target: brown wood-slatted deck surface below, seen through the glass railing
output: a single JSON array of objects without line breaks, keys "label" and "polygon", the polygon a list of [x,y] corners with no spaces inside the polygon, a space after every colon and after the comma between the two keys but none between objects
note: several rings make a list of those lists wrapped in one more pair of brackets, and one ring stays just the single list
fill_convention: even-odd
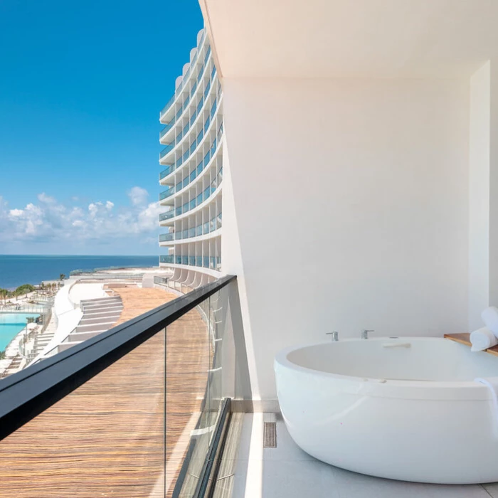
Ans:
[{"label": "brown wood-slatted deck surface below, seen through the glass railing", "polygon": [[[175,297],[119,292],[120,321]],[[207,338],[194,309],[1,441],[0,497],[169,496],[206,388]]]}]

